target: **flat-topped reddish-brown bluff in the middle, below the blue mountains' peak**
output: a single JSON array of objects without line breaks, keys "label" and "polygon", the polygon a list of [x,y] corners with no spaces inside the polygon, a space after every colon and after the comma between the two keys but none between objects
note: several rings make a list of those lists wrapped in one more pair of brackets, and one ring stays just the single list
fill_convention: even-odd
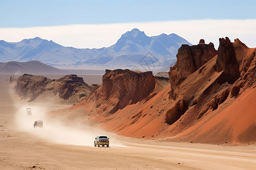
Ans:
[{"label": "flat-topped reddish-brown bluff in the middle, below the blue mountains' peak", "polygon": [[90,98],[101,104],[112,105],[109,113],[115,113],[129,104],[146,99],[155,88],[152,71],[140,73],[130,70],[106,70],[101,86],[96,87]]}]

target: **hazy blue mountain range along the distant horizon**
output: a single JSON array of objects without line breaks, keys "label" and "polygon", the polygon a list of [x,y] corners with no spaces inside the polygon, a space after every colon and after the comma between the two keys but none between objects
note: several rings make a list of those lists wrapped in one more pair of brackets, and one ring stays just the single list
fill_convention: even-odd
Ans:
[{"label": "hazy blue mountain range along the distant horizon", "polygon": [[112,46],[100,49],[64,47],[39,37],[20,42],[0,41],[0,62],[31,60],[51,66],[170,66],[176,61],[177,50],[187,40],[172,33],[147,36],[139,29],[124,33]]}]

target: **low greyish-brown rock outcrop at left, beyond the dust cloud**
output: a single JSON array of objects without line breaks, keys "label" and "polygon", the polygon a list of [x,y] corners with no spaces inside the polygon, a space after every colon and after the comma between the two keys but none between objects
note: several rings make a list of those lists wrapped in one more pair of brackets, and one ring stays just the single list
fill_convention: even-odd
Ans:
[{"label": "low greyish-brown rock outcrop at left, beyond the dust cloud", "polygon": [[44,76],[23,74],[16,80],[14,89],[16,94],[28,101],[40,96],[46,99],[58,96],[64,103],[72,104],[89,96],[92,87],[77,75],[65,75],[60,79],[52,80]]}]

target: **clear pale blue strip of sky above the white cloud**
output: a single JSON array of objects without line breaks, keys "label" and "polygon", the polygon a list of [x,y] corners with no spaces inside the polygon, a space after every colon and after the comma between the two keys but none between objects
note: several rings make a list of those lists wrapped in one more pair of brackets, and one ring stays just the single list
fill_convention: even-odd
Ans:
[{"label": "clear pale blue strip of sky above the white cloud", "polygon": [[255,0],[8,0],[0,3],[0,27],[38,27],[191,19],[255,19],[255,7]]}]

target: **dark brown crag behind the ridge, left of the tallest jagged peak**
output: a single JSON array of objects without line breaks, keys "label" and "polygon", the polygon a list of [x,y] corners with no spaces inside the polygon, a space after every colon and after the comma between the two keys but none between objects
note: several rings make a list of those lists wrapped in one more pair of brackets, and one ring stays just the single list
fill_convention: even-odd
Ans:
[{"label": "dark brown crag behind the ridge, left of the tallest jagged peak", "polygon": [[171,88],[178,86],[187,76],[216,56],[217,51],[212,42],[209,44],[203,44],[202,40],[200,42],[198,45],[181,45],[179,48],[177,61],[173,67],[170,67]]}]

